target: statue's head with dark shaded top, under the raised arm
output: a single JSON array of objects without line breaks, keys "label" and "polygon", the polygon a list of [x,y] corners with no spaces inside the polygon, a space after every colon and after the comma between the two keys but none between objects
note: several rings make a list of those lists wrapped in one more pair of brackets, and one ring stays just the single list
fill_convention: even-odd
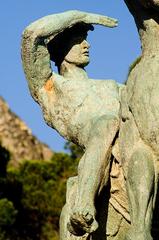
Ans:
[{"label": "statue's head with dark shaded top, under the raised arm", "polygon": [[65,29],[48,44],[50,58],[58,68],[63,61],[79,67],[89,63],[89,43],[87,42],[88,30],[93,30],[91,24],[78,23]]}]

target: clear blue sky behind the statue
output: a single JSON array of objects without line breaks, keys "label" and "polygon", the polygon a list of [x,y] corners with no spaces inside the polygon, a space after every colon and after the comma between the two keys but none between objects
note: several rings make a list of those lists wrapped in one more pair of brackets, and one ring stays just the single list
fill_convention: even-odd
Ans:
[{"label": "clear blue sky behind the statue", "polygon": [[73,9],[119,20],[117,28],[96,26],[89,33],[91,62],[86,70],[91,78],[124,82],[129,65],[140,55],[140,43],[133,18],[123,0],[1,1],[0,95],[33,134],[55,151],[63,150],[64,140],[45,124],[39,106],[30,97],[21,65],[21,34],[28,24],[40,17]]}]

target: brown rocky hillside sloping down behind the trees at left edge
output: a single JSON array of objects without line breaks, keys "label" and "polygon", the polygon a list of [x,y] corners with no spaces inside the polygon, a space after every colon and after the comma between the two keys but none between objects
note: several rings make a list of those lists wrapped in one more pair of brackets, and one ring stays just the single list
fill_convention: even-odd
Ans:
[{"label": "brown rocky hillside sloping down behind the trees at left edge", "polygon": [[11,153],[14,166],[22,160],[48,160],[53,152],[41,143],[27,125],[14,114],[0,97],[0,144]]}]

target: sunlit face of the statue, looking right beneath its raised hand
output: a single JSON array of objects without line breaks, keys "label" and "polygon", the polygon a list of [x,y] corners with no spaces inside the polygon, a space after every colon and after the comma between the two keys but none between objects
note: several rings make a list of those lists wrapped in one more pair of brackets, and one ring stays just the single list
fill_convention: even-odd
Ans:
[{"label": "sunlit face of the statue, looking right beneath its raised hand", "polygon": [[69,43],[69,51],[64,59],[76,66],[85,67],[89,63],[89,48],[86,36],[75,36]]}]

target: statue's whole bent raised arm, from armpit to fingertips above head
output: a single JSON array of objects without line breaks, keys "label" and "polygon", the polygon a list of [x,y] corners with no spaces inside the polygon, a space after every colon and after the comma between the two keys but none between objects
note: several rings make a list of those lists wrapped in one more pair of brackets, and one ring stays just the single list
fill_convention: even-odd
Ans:
[{"label": "statue's whole bent raised arm, from armpit to fingertips above head", "polygon": [[30,24],[22,37],[22,61],[32,97],[38,101],[39,89],[52,76],[47,43],[64,29],[78,22],[117,26],[115,19],[80,11],[43,17]]}]

